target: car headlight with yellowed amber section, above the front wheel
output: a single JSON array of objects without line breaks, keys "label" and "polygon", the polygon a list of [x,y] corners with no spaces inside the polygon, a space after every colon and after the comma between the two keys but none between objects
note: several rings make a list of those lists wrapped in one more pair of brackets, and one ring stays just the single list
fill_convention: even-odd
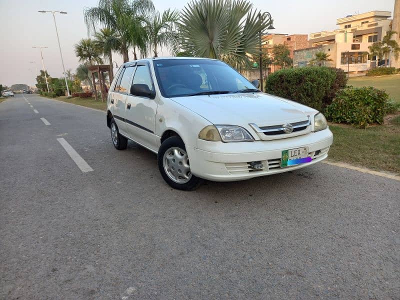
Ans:
[{"label": "car headlight with yellowed amber section, above the front wheel", "polygon": [[223,142],[254,140],[246,129],[235,125],[208,125],[201,129],[198,138]]}]

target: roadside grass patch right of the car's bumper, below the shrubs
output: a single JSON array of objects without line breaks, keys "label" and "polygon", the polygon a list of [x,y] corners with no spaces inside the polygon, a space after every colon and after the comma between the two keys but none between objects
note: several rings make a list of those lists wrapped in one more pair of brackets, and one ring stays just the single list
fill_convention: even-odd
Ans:
[{"label": "roadside grass patch right of the car's bumper, below the shrubs", "polygon": [[329,159],[400,174],[400,115],[366,129],[329,124],[333,144]]}]

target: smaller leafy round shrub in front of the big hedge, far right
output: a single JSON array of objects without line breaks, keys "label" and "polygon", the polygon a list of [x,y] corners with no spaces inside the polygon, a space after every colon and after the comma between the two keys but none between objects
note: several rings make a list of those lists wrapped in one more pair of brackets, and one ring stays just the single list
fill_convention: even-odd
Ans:
[{"label": "smaller leafy round shrub in front of the big hedge, far right", "polygon": [[346,87],[340,90],[326,107],[325,116],[336,123],[349,123],[365,128],[383,123],[389,96],[372,86]]}]

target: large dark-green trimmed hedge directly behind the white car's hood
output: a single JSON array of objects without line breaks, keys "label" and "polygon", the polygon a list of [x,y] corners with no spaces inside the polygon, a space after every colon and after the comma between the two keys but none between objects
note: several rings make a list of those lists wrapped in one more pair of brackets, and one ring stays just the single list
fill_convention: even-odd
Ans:
[{"label": "large dark-green trimmed hedge directly behind the white car's hood", "polygon": [[344,72],[336,68],[287,68],[268,76],[265,91],[322,110],[346,82]]}]

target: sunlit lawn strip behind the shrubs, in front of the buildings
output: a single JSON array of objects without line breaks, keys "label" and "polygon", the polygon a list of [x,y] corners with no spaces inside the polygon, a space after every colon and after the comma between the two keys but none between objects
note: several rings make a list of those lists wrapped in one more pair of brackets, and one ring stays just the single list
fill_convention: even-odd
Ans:
[{"label": "sunlit lawn strip behind the shrubs, in front of the buildings", "polygon": [[354,87],[371,85],[376,88],[385,89],[390,98],[400,103],[400,74],[378,77],[351,77],[348,79],[347,84],[353,85]]}]

